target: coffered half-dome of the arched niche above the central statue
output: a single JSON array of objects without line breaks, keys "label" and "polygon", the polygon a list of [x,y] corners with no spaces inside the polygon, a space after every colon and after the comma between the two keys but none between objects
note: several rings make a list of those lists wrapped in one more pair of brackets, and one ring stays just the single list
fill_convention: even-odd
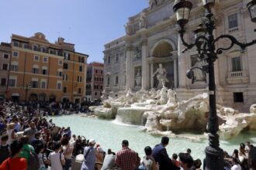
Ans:
[{"label": "coffered half-dome of the arched niche above the central statue", "polygon": [[171,52],[174,51],[175,43],[171,39],[161,39],[154,43],[154,46],[150,50],[150,56],[154,57],[166,57],[171,56]]}]

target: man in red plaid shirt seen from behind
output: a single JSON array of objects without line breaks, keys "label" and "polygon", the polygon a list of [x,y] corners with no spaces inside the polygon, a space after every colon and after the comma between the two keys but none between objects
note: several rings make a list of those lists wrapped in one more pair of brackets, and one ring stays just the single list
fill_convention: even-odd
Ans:
[{"label": "man in red plaid shirt seen from behind", "polygon": [[137,168],[137,154],[129,148],[129,142],[123,140],[122,150],[116,153],[116,165],[122,170],[131,170]]}]

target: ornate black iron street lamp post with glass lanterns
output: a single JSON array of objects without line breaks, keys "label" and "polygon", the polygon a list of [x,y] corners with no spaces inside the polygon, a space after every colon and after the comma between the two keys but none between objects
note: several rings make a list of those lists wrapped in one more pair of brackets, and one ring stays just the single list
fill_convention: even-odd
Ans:
[{"label": "ornate black iron street lamp post with glass lanterns", "polygon": [[[216,39],[213,36],[213,30],[216,29],[215,22],[213,20],[213,8],[214,0],[202,0],[202,4],[206,9],[205,16],[206,22],[200,25],[199,28],[193,32],[195,34],[195,42],[189,44],[184,40],[185,25],[189,22],[189,15],[192,9],[192,2],[187,0],[176,0],[173,5],[173,10],[176,13],[177,24],[179,26],[178,33],[182,40],[182,44],[185,49],[182,53],[185,53],[188,49],[196,47],[199,52],[199,59],[207,63],[206,66],[202,66],[202,71],[209,74],[209,120],[208,120],[208,131],[209,131],[209,146],[206,147],[206,170],[221,170],[223,169],[223,150],[220,148],[218,117],[216,114],[216,85],[214,77],[214,62],[216,61],[217,54],[223,53],[223,50],[231,49],[235,44],[240,46],[241,51],[247,46],[251,46],[256,43],[256,39],[248,43],[238,42],[234,36],[223,35]],[[247,8],[251,15],[251,21],[256,22],[256,0],[251,0],[247,3]],[[230,39],[230,46],[227,48],[216,49],[216,42],[220,39]],[[189,78],[192,78],[192,70],[187,73]]]}]

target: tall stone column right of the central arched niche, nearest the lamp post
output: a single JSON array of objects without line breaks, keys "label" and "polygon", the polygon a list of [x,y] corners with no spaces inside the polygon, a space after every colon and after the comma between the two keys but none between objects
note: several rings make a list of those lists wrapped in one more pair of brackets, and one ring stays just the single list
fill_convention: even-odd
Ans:
[{"label": "tall stone column right of the central arched niche, nearest the lamp post", "polygon": [[[187,35],[184,35],[185,41],[187,41]],[[186,87],[186,57],[185,53],[182,53],[182,49],[185,47],[182,45],[182,39],[178,34],[178,87],[185,88]]]}]

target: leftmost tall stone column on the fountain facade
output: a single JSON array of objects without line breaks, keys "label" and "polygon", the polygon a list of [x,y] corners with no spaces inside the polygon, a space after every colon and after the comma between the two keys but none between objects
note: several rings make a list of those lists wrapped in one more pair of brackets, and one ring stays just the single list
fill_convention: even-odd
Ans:
[{"label": "leftmost tall stone column on the fountain facade", "polygon": [[126,90],[132,89],[132,58],[133,46],[127,44],[126,46]]}]

